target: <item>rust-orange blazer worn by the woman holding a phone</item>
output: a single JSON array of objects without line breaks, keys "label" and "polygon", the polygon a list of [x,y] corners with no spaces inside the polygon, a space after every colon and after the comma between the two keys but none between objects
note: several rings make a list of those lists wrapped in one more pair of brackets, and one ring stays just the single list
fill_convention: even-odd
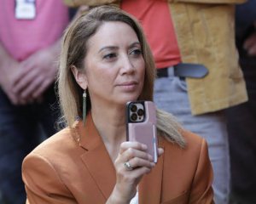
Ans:
[{"label": "rust-orange blazer worn by the woman holding a phone", "polygon": [[[80,140],[70,129],[56,133],[38,145],[22,165],[27,203],[102,204],[108,200],[116,182],[108,150],[91,116],[77,125]],[[212,166],[207,142],[186,132],[188,146],[162,139],[165,150],[153,171],[138,185],[139,204],[214,203]]]}]

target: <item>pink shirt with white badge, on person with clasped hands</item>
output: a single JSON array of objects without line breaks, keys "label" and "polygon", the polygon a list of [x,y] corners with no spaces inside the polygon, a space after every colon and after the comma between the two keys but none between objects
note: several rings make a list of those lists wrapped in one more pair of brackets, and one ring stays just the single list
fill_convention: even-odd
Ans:
[{"label": "pink shirt with white badge, on person with clasped hands", "polygon": [[34,20],[16,20],[15,0],[0,0],[0,41],[18,61],[53,44],[69,22],[61,0],[36,0],[35,5]]}]

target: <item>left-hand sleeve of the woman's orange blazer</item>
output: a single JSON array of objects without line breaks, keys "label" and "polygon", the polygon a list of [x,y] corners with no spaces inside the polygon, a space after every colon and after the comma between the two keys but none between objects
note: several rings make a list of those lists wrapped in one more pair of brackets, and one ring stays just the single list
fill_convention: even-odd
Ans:
[{"label": "left-hand sleeve of the woman's orange blazer", "polygon": [[55,168],[44,156],[31,153],[22,164],[22,178],[25,183],[27,202],[30,204],[77,203],[61,181]]}]

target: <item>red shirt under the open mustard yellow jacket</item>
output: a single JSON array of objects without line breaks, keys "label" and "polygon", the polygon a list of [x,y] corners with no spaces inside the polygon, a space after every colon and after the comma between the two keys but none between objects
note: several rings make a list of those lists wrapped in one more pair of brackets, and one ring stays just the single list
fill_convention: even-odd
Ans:
[{"label": "red shirt under the open mustard yellow jacket", "polygon": [[172,16],[166,1],[123,0],[121,8],[141,21],[157,68],[181,62]]}]

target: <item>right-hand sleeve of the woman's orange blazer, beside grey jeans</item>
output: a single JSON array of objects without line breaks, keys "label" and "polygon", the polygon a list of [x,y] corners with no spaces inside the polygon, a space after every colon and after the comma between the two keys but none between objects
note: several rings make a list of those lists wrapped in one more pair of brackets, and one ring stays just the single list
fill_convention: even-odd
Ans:
[{"label": "right-hand sleeve of the woman's orange blazer, beside grey jeans", "polygon": [[203,139],[201,154],[189,195],[189,203],[214,204],[212,190],[213,172],[208,156],[207,141]]}]

